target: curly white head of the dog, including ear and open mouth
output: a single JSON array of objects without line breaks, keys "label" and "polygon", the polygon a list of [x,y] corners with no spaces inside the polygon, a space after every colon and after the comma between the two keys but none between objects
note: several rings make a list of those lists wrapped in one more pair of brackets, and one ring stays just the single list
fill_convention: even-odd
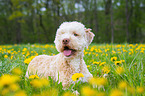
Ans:
[{"label": "curly white head of the dog, including ear and open mouth", "polygon": [[54,43],[58,52],[71,57],[88,47],[94,36],[82,23],[64,22],[57,29]]}]

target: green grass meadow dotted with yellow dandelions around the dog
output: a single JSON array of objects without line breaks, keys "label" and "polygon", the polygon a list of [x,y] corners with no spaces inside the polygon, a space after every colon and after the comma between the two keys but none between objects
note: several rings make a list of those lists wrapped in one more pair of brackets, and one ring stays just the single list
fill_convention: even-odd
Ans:
[{"label": "green grass meadow dotted with yellow dandelions around the dog", "polygon": [[81,96],[145,96],[144,52],[145,44],[92,44],[84,60],[94,78],[63,90],[51,78],[25,78],[35,56],[58,53],[54,45],[0,45],[0,96],[74,96],[72,89]]}]

